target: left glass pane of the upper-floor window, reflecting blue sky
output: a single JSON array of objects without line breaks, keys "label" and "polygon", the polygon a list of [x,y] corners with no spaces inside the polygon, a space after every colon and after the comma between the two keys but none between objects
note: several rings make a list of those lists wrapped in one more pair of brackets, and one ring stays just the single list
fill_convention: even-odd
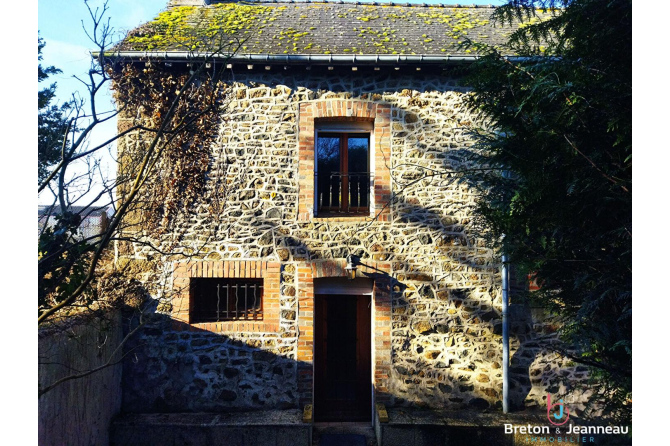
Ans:
[{"label": "left glass pane of the upper-floor window, reflecting blue sky", "polygon": [[317,151],[317,191],[319,207],[340,206],[340,137],[319,136]]}]

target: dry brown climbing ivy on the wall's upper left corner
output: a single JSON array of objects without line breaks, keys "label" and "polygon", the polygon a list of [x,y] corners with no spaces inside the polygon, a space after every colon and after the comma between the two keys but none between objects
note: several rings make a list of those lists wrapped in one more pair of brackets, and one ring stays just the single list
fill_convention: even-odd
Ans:
[{"label": "dry brown climbing ivy on the wall's upper left corner", "polygon": [[[190,76],[158,63],[147,63],[143,68],[127,64],[113,74],[115,99],[123,114],[133,117],[133,125],[143,126],[147,134],[161,126],[166,129],[159,143],[162,153],[138,200],[141,211],[136,212],[143,229],[158,233],[170,229],[179,211],[202,195],[211,146],[222,119],[220,109],[229,91],[226,84],[209,75],[189,83]],[[175,107],[174,114],[165,122],[171,107]],[[141,156],[142,132],[138,138],[140,144],[120,154],[124,157],[121,165],[131,170]]]}]

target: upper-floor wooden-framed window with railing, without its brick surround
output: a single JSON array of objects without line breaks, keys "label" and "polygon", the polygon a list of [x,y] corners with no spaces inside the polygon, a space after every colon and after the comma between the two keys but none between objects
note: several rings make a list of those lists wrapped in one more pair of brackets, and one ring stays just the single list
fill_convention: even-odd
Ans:
[{"label": "upper-floor wooden-framed window with railing, without its brick surround", "polygon": [[370,213],[368,128],[371,125],[368,124],[334,122],[318,126],[315,172],[317,215]]}]

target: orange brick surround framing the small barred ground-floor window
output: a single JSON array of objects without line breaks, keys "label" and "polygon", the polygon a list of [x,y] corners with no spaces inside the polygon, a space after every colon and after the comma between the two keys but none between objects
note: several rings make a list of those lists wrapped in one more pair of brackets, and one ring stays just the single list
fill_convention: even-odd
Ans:
[{"label": "orange brick surround framing the small barred ground-floor window", "polygon": [[[279,330],[279,262],[261,260],[192,261],[173,263],[172,318],[181,325],[214,332],[271,332]],[[191,278],[263,279],[263,319],[192,323]]]}]

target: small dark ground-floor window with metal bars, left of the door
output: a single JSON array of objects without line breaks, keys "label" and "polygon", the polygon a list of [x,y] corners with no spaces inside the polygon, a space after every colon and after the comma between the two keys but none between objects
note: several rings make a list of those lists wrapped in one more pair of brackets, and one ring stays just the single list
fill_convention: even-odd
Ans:
[{"label": "small dark ground-floor window with metal bars, left of the door", "polygon": [[263,279],[191,279],[191,322],[263,319]]}]

